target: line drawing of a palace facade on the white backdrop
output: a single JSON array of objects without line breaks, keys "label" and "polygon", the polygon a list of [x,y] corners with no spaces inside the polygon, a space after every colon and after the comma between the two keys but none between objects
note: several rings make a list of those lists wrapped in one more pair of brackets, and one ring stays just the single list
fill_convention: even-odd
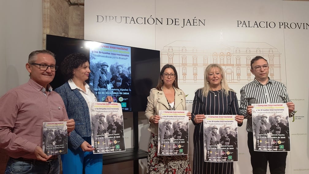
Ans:
[{"label": "line drawing of a palace facade on the white backdrop", "polygon": [[164,46],[160,54],[161,67],[167,63],[176,67],[179,84],[204,84],[205,68],[218,63],[229,84],[245,85],[254,79],[250,62],[258,55],[268,61],[270,79],[285,78],[281,73],[281,53],[265,42],[174,41]]}]

